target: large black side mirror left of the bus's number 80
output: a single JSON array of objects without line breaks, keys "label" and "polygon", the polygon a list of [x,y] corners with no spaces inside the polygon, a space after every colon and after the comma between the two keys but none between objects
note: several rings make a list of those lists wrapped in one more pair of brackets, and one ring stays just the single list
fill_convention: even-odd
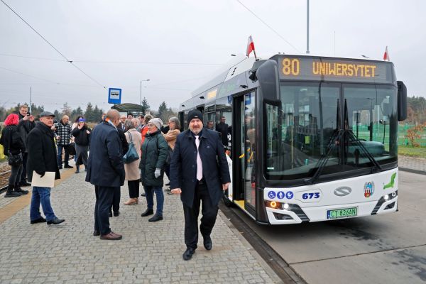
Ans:
[{"label": "large black side mirror left of the bus's number 80", "polygon": [[280,98],[278,63],[275,60],[265,60],[256,70],[256,77],[264,99]]}]

